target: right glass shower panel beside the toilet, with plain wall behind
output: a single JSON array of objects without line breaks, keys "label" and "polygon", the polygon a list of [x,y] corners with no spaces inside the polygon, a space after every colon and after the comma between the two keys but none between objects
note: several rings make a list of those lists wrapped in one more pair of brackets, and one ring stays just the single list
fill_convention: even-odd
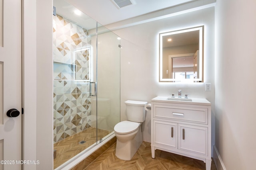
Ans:
[{"label": "right glass shower panel beside the toilet, with plain wall behind", "polygon": [[120,122],[120,38],[98,24],[97,42],[97,127],[104,140]]}]

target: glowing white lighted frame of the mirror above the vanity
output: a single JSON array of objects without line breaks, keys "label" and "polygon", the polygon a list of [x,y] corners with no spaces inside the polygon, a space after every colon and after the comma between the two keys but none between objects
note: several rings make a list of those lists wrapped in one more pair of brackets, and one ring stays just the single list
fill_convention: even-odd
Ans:
[{"label": "glowing white lighted frame of the mirror above the vanity", "polygon": [[[163,68],[162,68],[163,37],[166,35],[173,35],[173,34],[185,33],[185,32],[196,31],[196,30],[199,30],[199,49],[198,49],[199,78],[194,78],[194,79],[163,78]],[[203,82],[203,80],[204,80],[204,25],[159,33],[159,82]]]}]

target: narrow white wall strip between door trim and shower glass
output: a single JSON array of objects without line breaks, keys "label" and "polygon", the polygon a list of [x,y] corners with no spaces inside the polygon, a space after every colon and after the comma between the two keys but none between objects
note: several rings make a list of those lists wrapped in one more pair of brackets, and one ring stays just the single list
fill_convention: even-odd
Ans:
[{"label": "narrow white wall strip between door trim and shower glass", "polygon": [[50,170],[53,167],[52,1],[36,0],[36,40],[36,158],[40,160],[36,169]]}]

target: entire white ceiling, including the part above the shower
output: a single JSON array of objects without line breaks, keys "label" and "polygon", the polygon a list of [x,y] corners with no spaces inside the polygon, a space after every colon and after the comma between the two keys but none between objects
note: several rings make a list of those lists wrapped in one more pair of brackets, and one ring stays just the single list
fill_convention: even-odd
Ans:
[{"label": "entire white ceiling, including the part above the shower", "polygon": [[[86,29],[92,29],[95,28],[96,21],[102,25],[108,25],[198,0],[132,1],[135,2],[135,4],[125,6],[123,8],[117,8],[113,0],[53,0],[53,5],[56,7],[57,14],[77,23]],[[80,17],[74,15],[74,10],[76,9],[75,7],[84,14]],[[92,18],[94,20],[92,20]],[[84,23],[86,23],[86,25],[84,25]]]}]

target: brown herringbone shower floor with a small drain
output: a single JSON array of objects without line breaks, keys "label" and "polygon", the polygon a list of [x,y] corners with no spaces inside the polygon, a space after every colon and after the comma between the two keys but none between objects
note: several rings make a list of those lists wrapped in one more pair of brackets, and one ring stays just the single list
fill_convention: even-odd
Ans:
[{"label": "brown herringbone shower floor with a small drain", "polygon": [[[98,129],[98,140],[111,133],[110,131]],[[85,141],[85,142],[84,142]],[[54,159],[54,169],[82,152],[84,149],[96,143],[96,128],[89,127],[86,130],[72,135],[62,141],[54,143],[56,158]]]}]

